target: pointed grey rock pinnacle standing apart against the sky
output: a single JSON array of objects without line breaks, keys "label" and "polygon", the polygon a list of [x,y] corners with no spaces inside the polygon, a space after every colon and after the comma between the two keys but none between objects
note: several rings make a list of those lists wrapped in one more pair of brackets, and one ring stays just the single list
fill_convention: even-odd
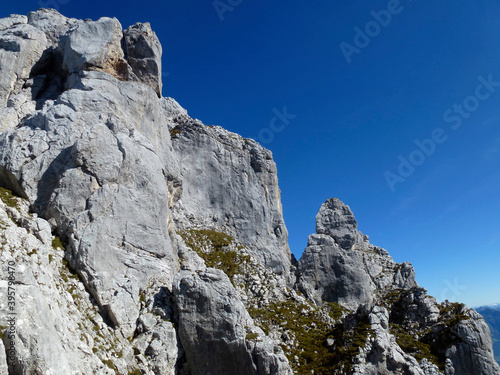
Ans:
[{"label": "pointed grey rock pinnacle standing apart against the sky", "polygon": [[299,261],[299,287],[314,300],[355,309],[391,289],[417,285],[411,264],[397,264],[386,250],[371,245],[340,200],[321,206],[316,231]]}]

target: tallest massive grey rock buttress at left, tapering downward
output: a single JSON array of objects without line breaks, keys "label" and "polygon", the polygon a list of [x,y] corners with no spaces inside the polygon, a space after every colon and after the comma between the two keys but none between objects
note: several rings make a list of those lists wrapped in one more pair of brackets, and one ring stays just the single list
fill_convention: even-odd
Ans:
[{"label": "tallest massive grey rock buttress at left, tapering downward", "polygon": [[[61,33],[62,25],[70,28],[58,46],[36,56],[52,54],[61,66],[53,65],[55,72],[32,70],[44,73],[31,77],[43,87],[28,85],[16,102],[9,99],[8,109],[23,117],[0,135],[0,169],[9,177],[3,184],[50,219],[68,243],[71,266],[113,323],[131,335],[139,290],[155,277],[171,284],[175,267],[167,176],[176,172],[167,156],[164,104],[150,87],[116,78],[117,64],[126,65],[116,19],[56,25]],[[45,31],[55,33],[21,26],[41,33],[42,41]],[[20,53],[31,48],[20,46]],[[47,78],[60,74],[57,69],[67,74],[64,85]],[[41,90],[52,91],[50,98]],[[16,105],[23,101],[35,104],[27,111],[28,104]],[[145,128],[144,134],[138,131]],[[162,132],[167,135],[158,139]]]}]

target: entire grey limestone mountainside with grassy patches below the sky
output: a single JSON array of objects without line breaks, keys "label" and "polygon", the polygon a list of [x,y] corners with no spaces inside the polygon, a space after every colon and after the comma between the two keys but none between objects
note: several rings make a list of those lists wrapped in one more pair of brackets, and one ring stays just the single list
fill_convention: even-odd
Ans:
[{"label": "entire grey limestone mountainside with grassy patches below the sky", "polygon": [[0,20],[0,374],[498,374],[328,200],[296,263],[271,152],[161,97],[149,24]]}]

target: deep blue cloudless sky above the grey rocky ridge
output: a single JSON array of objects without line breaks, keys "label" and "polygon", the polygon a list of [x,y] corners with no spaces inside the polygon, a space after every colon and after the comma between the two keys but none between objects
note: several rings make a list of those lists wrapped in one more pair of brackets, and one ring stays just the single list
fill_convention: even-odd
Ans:
[{"label": "deep blue cloudless sky above the grey rocky ridge", "polygon": [[[430,294],[500,302],[499,2],[222,0],[219,15],[211,0],[50,0],[0,12],[44,4],[124,28],[151,22],[163,94],[268,141],[297,257],[319,206],[338,197]],[[390,21],[372,12],[388,9]],[[287,123],[272,121],[285,106]]]}]

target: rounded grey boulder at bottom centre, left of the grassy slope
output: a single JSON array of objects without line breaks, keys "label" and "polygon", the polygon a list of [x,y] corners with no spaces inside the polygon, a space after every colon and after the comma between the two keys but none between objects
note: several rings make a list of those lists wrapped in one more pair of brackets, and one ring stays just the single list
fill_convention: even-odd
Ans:
[{"label": "rounded grey boulder at bottom centre, left of the grassy slope", "polygon": [[[181,271],[173,292],[179,336],[193,375],[292,374],[282,350],[254,326],[222,271]],[[249,333],[262,338],[253,342]]]}]

